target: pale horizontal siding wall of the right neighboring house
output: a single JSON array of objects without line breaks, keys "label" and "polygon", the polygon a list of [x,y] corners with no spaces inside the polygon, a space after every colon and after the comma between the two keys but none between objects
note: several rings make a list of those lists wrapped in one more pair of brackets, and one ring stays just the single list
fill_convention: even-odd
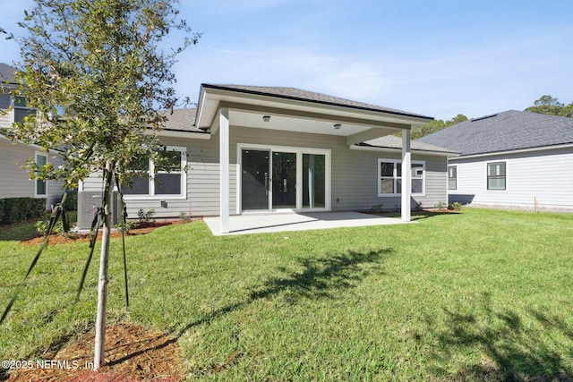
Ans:
[{"label": "pale horizontal siding wall of the right neighboring house", "polygon": [[[486,190],[486,163],[506,161],[506,190]],[[479,158],[457,158],[458,190],[449,200],[484,206],[573,208],[573,149],[547,149]],[[534,199],[535,198],[535,199]]]}]

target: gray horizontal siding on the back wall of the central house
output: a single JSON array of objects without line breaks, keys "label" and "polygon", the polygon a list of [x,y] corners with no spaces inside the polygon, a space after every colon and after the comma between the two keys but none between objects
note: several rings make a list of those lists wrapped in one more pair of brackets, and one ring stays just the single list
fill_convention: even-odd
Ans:
[{"label": "gray horizontal siding on the back wall of the central house", "polygon": [[[399,206],[400,197],[378,197],[378,158],[399,159],[396,151],[364,151],[349,149],[346,139],[321,134],[281,132],[247,127],[231,126],[229,143],[230,157],[230,206],[231,215],[236,212],[236,166],[240,153],[238,144],[268,145],[304,149],[330,149],[331,151],[331,206],[334,211],[365,210],[382,204],[384,208]],[[161,199],[127,199],[130,218],[137,217],[140,208],[155,209],[155,217],[176,217],[182,213],[191,216],[218,216],[219,214],[219,134],[210,140],[164,139],[162,144],[187,148],[187,195],[184,199],[167,199],[167,208],[161,207]],[[419,156],[413,160],[425,161],[426,193],[412,199],[412,208],[422,202],[423,207],[446,201],[446,157]],[[85,191],[101,191],[101,176],[92,174],[83,183]]]}]

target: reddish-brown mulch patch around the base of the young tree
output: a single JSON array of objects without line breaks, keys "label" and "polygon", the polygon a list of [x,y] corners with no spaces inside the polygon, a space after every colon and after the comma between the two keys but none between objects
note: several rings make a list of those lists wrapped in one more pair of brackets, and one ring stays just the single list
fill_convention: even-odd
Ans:
[{"label": "reddish-brown mulch patch around the base of the young tree", "polygon": [[97,373],[90,369],[94,338],[94,333],[83,335],[60,351],[42,356],[48,367],[45,363],[44,367],[19,369],[10,374],[8,381],[175,382],[184,379],[184,362],[172,336],[129,323],[108,326],[106,366]]}]

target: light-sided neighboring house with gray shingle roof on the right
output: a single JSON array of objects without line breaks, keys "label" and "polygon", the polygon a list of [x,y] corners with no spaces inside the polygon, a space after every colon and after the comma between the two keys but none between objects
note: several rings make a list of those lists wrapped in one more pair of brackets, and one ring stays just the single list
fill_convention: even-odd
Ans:
[{"label": "light-sided neighboring house with gray shingle roof on the right", "polygon": [[449,203],[573,210],[573,118],[509,110],[420,139],[449,158]]}]

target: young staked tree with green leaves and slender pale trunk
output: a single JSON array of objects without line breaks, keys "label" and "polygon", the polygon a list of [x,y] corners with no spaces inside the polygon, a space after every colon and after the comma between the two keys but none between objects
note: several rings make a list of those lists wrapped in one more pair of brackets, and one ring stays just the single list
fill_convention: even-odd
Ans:
[{"label": "young staked tree with green leaves and slender pale trunk", "polygon": [[[19,123],[18,139],[62,152],[64,165],[30,174],[63,180],[73,189],[101,171],[103,238],[99,263],[94,369],[104,363],[107,259],[111,196],[115,180],[128,180],[130,164],[158,157],[154,133],[166,121],[159,110],[175,106],[171,67],[175,56],[197,42],[178,19],[176,0],[35,0],[21,27],[20,96],[38,114]],[[170,31],[184,32],[182,46],[163,51]]]}]

